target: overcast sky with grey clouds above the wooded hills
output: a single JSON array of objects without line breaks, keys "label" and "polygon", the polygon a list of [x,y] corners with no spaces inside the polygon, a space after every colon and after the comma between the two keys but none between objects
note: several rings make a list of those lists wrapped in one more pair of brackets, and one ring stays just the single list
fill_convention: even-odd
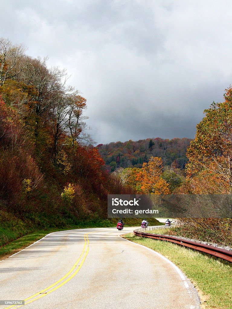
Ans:
[{"label": "overcast sky with grey clouds above the wooded hills", "polygon": [[194,138],[232,82],[229,0],[0,2],[0,36],[67,68],[97,144]]}]

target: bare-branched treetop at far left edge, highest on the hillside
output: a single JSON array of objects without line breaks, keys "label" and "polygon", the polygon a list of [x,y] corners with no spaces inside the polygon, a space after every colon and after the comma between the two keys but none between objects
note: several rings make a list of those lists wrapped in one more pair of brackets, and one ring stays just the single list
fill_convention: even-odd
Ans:
[{"label": "bare-branched treetop at far left edge, highest on the hillside", "polygon": [[20,59],[26,48],[23,44],[12,45],[9,39],[0,38],[0,86],[6,79],[15,78],[26,66]]}]

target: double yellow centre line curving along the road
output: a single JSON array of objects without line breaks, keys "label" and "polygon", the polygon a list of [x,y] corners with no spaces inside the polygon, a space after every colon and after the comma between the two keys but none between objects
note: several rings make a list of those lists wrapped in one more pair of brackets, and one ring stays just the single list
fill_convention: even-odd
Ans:
[{"label": "double yellow centre line curving along the road", "polygon": [[[91,232],[89,232],[89,233],[91,233]],[[40,291],[40,292],[38,292],[38,293],[36,293],[36,294],[34,294],[34,295],[28,297],[28,298],[25,298],[24,301],[27,301],[27,300],[29,300],[29,299],[32,299],[32,298],[36,297],[37,295],[39,295],[39,294],[41,294],[41,293],[43,293],[43,292],[45,292],[45,291],[51,289],[52,287],[56,286],[58,283],[60,283],[61,281],[63,281],[65,278],[67,278],[67,277],[73,272],[73,270],[76,268],[76,266],[78,265],[79,261],[81,260],[82,256],[84,255],[84,252],[85,252],[85,249],[86,249],[85,255],[84,255],[84,257],[83,257],[83,259],[82,259],[80,265],[79,265],[78,268],[76,269],[76,271],[75,271],[69,278],[67,278],[64,282],[62,282],[62,283],[59,284],[58,286],[54,287],[54,289],[48,291],[46,294],[41,294],[39,297],[37,297],[37,298],[35,298],[35,299],[32,299],[32,300],[30,300],[29,302],[26,302],[24,305],[27,305],[27,304],[29,304],[29,303],[32,303],[32,302],[34,302],[35,300],[37,300],[37,299],[39,299],[39,298],[41,298],[41,297],[44,297],[44,296],[48,295],[49,293],[51,293],[51,292],[57,290],[59,287],[63,286],[65,283],[67,283],[69,280],[71,280],[71,279],[79,272],[79,270],[81,269],[82,265],[84,264],[84,261],[85,261],[85,259],[86,259],[86,256],[88,255],[88,252],[89,252],[89,240],[88,240],[88,236],[87,236],[89,233],[86,233],[86,234],[84,235],[84,248],[83,248],[83,250],[82,250],[82,252],[81,252],[81,255],[79,256],[79,259],[75,262],[75,264],[74,264],[73,267],[70,269],[70,271],[69,271],[65,276],[63,276],[61,279],[59,279],[58,281],[56,281],[56,282],[53,283],[52,285],[48,286],[46,289],[44,289],[44,290],[42,290],[42,291]],[[86,248],[86,240],[87,240],[87,248]],[[7,307],[7,308],[5,308],[5,309],[9,309],[9,308],[12,308],[12,307],[15,307],[15,306],[17,306],[17,308],[19,308],[19,307],[22,307],[22,306],[24,306],[24,305],[20,305],[20,306],[12,305],[12,306]]]}]

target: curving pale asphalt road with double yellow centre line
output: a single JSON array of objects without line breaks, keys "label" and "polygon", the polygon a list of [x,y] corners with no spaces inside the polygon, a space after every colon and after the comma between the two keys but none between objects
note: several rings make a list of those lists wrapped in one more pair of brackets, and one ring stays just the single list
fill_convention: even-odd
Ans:
[{"label": "curving pale asphalt road with double yellow centre line", "polygon": [[172,263],[118,236],[133,229],[45,236],[0,262],[0,300],[25,300],[27,309],[199,308],[194,287]]}]

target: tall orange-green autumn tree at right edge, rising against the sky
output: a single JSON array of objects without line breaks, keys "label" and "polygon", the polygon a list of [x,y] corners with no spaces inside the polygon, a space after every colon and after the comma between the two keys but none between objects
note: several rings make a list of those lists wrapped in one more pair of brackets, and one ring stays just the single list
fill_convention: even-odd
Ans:
[{"label": "tall orange-green autumn tree at right edge, rising against the sky", "polygon": [[205,173],[232,192],[232,88],[226,89],[225,102],[213,103],[197,125],[195,140],[187,150],[187,176]]}]

